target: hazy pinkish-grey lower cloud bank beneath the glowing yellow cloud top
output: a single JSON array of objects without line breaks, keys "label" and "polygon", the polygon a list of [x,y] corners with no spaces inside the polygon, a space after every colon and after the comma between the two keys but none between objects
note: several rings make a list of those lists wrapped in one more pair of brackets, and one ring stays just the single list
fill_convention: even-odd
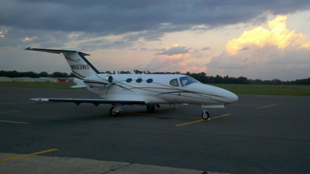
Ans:
[{"label": "hazy pinkish-grey lower cloud bank beneath the glowing yellow cloud top", "polygon": [[207,74],[252,79],[295,80],[310,77],[310,49],[285,51],[276,46],[253,46],[246,52],[223,52],[206,64]]}]

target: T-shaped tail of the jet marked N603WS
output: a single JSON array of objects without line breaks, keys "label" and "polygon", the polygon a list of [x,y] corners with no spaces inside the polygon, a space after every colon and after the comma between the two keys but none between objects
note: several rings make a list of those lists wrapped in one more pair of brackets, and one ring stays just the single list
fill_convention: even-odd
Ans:
[{"label": "T-shaped tail of the jet marked N603WS", "polygon": [[84,57],[90,56],[89,54],[72,50],[54,50],[54,49],[40,49],[28,47],[25,50],[42,51],[47,53],[63,54],[67,60],[73,74],[78,78],[86,78],[94,74],[98,74],[99,71],[93,67],[93,65]]}]

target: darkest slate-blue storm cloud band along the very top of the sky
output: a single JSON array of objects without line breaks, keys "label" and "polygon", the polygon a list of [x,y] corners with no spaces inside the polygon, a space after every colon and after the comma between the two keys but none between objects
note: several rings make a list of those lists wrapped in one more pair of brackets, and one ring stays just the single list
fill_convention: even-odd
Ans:
[{"label": "darkest slate-blue storm cloud band along the very top of the sky", "polygon": [[0,25],[102,35],[143,30],[169,32],[195,25],[212,29],[258,16],[264,20],[266,11],[287,14],[309,7],[308,0],[3,0]]}]

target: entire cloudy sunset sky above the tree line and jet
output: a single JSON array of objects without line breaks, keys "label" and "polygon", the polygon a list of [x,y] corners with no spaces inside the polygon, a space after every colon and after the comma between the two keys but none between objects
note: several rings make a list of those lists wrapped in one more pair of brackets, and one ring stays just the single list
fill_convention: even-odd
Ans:
[{"label": "entire cloudy sunset sky above the tree line and jet", "polygon": [[310,77],[309,0],[0,0],[0,70],[70,73],[75,49],[100,72]]}]

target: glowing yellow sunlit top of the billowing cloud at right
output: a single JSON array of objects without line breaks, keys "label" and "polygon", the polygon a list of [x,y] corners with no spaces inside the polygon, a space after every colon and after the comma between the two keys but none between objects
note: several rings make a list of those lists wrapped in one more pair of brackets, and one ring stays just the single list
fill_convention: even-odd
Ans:
[{"label": "glowing yellow sunlit top of the billowing cloud at right", "polygon": [[236,54],[242,51],[246,45],[275,45],[278,48],[285,48],[291,44],[305,40],[302,33],[296,33],[286,28],[286,16],[278,15],[274,20],[268,21],[269,29],[259,26],[249,31],[244,31],[242,35],[229,41],[226,44],[226,51]]}]

